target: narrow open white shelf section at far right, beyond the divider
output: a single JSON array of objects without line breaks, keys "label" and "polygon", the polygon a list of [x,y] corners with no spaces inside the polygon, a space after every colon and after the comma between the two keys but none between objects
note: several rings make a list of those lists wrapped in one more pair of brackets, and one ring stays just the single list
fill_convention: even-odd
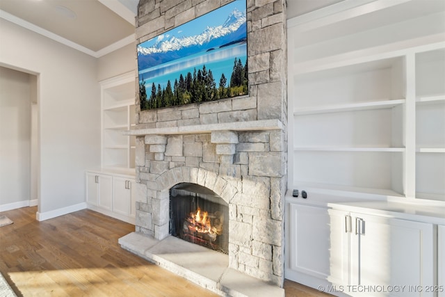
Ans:
[{"label": "narrow open white shelf section at far right, beyond the divider", "polygon": [[445,49],[416,54],[416,198],[445,201]]}]

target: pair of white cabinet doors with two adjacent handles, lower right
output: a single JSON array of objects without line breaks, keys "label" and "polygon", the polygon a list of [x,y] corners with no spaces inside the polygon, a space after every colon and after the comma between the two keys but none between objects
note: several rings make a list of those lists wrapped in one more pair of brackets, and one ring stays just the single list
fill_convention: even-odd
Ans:
[{"label": "pair of white cabinet doors with two adjacent handles, lower right", "polygon": [[329,213],[332,284],[351,296],[366,295],[359,285],[385,288],[372,296],[436,296],[433,224],[335,209]]}]

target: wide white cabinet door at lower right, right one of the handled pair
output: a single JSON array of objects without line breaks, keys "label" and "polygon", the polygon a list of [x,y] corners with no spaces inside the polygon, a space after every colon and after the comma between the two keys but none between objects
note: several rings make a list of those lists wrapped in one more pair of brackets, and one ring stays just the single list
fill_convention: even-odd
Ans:
[{"label": "wide white cabinet door at lower right, right one of the handled pair", "polygon": [[373,292],[375,296],[433,296],[408,288],[435,284],[432,224],[364,214],[351,216],[351,284],[407,286],[403,291]]}]

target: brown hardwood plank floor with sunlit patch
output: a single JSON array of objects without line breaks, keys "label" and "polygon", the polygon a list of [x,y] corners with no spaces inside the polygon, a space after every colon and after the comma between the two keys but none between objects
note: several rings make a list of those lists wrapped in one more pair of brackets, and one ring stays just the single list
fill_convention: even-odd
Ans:
[{"label": "brown hardwood plank floor with sunlit patch", "polygon": [[[0,212],[0,272],[17,296],[216,296],[123,250],[134,226],[88,209],[38,222],[37,207]],[[286,297],[326,296],[290,282]]]}]

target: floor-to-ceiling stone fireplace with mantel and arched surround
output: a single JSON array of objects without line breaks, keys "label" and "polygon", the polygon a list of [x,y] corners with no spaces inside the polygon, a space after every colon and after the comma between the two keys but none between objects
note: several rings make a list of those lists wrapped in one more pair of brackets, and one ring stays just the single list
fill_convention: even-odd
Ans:
[{"label": "floor-to-ceiling stone fireplace with mantel and arched surround", "polygon": [[[143,42],[229,2],[140,0],[136,38]],[[206,192],[223,201],[216,204],[227,204],[223,237],[228,256],[218,253],[228,257],[228,267],[282,287],[285,0],[247,0],[247,7],[249,95],[149,111],[136,107],[136,129],[127,132],[136,136],[135,234],[156,241],[177,236],[184,218],[172,226],[172,191],[177,195],[196,187],[198,195]],[[215,219],[219,214],[213,207],[206,211]],[[188,235],[211,241],[202,234]],[[122,246],[135,249],[133,243]]]}]

